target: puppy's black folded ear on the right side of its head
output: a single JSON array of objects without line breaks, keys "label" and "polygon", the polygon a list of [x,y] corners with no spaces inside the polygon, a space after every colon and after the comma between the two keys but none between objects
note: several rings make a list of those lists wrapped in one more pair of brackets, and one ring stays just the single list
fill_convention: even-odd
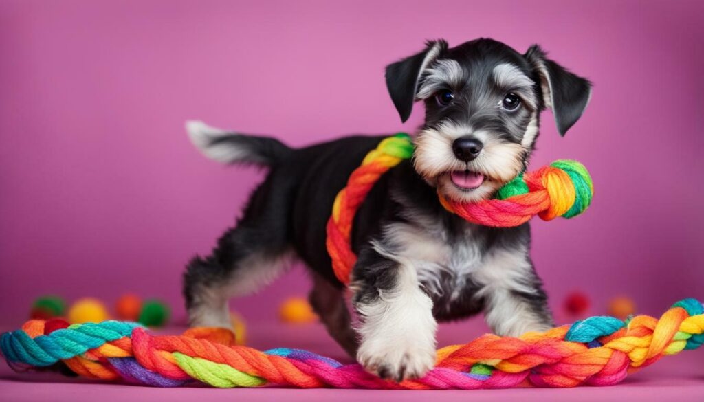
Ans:
[{"label": "puppy's black folded ear on the right side of its head", "polygon": [[548,59],[536,44],[530,46],[524,57],[538,73],[545,106],[553,109],[558,131],[564,136],[584,113],[591,96],[591,82]]}]

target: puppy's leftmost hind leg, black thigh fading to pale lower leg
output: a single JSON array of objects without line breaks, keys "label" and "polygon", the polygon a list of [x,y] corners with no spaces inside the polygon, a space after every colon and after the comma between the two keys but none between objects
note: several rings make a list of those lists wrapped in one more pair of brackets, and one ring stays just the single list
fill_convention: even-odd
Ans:
[{"label": "puppy's leftmost hind leg, black thigh fading to pale lower leg", "polygon": [[191,327],[230,328],[227,302],[253,294],[291,265],[287,208],[277,180],[270,177],[253,194],[244,218],[227,230],[206,258],[194,257],[183,276]]}]

